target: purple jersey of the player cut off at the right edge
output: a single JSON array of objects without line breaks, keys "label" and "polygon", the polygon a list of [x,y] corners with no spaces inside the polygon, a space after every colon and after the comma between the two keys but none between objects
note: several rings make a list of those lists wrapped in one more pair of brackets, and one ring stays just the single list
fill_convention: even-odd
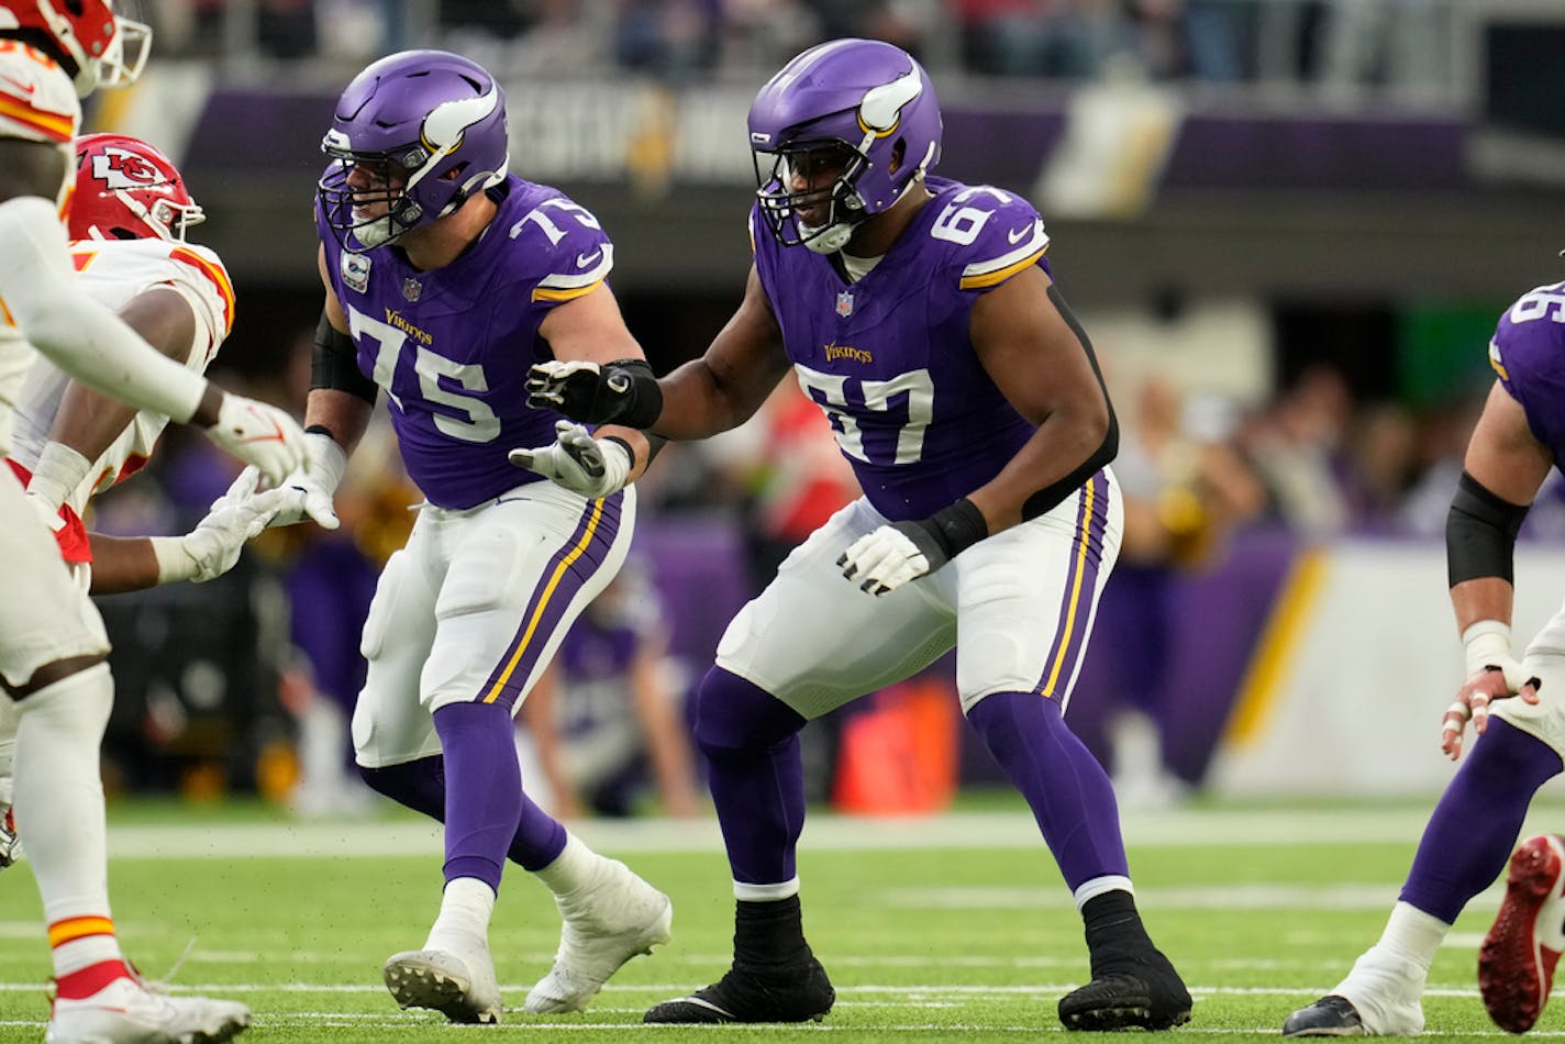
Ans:
[{"label": "purple jersey of the player cut off at the right edge", "polygon": [[1521,294],[1499,318],[1488,360],[1534,437],[1565,462],[1565,283]]}]

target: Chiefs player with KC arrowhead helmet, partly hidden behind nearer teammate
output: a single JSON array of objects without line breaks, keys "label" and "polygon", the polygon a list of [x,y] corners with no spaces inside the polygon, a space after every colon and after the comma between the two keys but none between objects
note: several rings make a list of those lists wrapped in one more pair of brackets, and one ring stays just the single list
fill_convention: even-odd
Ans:
[{"label": "Chiefs player with KC arrowhead helmet, partly hidden behind nearer teammate", "polygon": [[[75,150],[67,233],[77,279],[149,344],[203,373],[233,326],[233,286],[216,254],[185,243],[200,207],[172,161],[144,141],[86,135]],[[252,495],[257,476],[247,470],[183,537],[88,532],[89,498],[139,471],[166,426],[166,416],[89,391],[47,358],[22,383],[8,463],[53,531],[81,598],[221,576],[279,507],[279,490]],[[0,867],[17,844],[8,828],[16,726],[14,706],[0,701]]]}]

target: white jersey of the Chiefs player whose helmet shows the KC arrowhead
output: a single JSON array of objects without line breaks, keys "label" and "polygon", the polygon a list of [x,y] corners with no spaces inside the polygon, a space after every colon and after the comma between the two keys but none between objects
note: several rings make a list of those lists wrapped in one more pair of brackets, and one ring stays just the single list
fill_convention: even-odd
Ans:
[{"label": "white jersey of the Chiefs player whose helmet shows the KC arrowhead", "polygon": [[[233,285],[216,254],[192,243],[166,239],[81,239],[70,244],[70,258],[88,294],[116,311],[153,288],[174,290],[185,297],[196,313],[196,337],[180,362],[196,373],[207,371],[233,327]],[[11,455],[28,471],[49,441],[49,430],[69,380],[63,369],[44,357],[27,374],[16,401]],[[114,445],[94,462],[88,477],[72,490],[66,502],[81,513],[94,493],[135,474],[152,455],[167,423],[169,418],[158,413],[138,413]]]}]

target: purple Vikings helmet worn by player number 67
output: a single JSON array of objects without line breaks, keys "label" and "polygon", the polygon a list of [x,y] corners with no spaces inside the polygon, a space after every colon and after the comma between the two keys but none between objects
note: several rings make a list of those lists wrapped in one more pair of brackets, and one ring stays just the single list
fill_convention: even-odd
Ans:
[{"label": "purple Vikings helmet worn by player number 67", "polygon": [[[887,210],[941,158],[941,105],[912,55],[869,39],[836,39],[782,66],[750,106],[750,149],[761,213],[778,243],[840,250],[854,225]],[[793,157],[823,149],[845,160],[820,225],[800,207],[818,191],[795,191]],[[892,155],[901,152],[894,172]],[[762,163],[762,157],[767,163]]]}]

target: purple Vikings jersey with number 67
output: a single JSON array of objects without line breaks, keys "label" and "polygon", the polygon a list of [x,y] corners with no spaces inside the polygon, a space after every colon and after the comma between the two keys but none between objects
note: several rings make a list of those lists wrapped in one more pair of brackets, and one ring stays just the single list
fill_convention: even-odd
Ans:
[{"label": "purple Vikings jersey with number 67", "polygon": [[864,495],[886,518],[967,496],[1036,426],[984,373],[967,318],[986,290],[1042,265],[1049,235],[1027,200],[931,177],[934,194],[856,283],[829,257],[784,247],[751,211],[756,271],[793,373],[831,421]]}]

